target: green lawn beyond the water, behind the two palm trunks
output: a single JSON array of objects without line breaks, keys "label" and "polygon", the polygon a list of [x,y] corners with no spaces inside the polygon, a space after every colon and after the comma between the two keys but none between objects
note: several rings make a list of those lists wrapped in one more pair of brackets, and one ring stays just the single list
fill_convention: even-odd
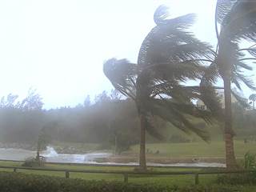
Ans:
[{"label": "green lawn beyond the water, behind the two palm trunks", "polygon": [[[138,154],[139,146],[132,146],[129,154]],[[237,158],[243,158],[247,151],[256,154],[256,143],[244,143],[234,141],[234,149]],[[153,154],[159,150],[160,154],[155,157],[166,158],[224,158],[225,146],[223,141],[206,142],[186,142],[186,143],[149,143],[146,149]]]}]

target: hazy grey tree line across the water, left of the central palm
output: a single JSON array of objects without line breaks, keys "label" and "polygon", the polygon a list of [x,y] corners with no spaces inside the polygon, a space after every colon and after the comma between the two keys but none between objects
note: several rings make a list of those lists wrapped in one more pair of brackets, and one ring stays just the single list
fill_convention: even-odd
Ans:
[{"label": "hazy grey tree line across the water, left of the central palm", "polygon": [[94,101],[87,96],[74,107],[43,110],[42,97],[29,90],[26,98],[8,94],[0,102],[0,142],[36,143],[44,130],[60,142],[92,142],[118,151],[138,143],[138,118],[134,102],[103,91]]}]

